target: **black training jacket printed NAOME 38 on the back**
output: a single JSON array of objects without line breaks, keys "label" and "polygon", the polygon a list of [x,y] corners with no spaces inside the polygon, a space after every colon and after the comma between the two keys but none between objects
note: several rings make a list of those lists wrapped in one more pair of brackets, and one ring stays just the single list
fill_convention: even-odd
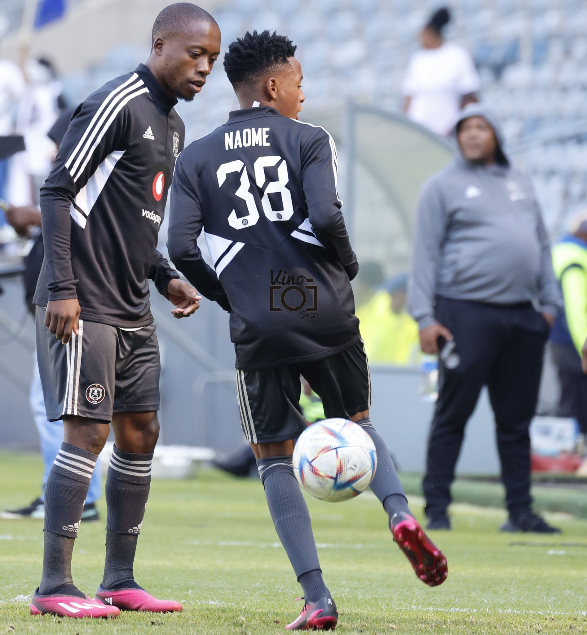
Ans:
[{"label": "black training jacket printed NAOME 38 on the back", "polygon": [[[270,107],[231,112],[181,153],[169,256],[230,310],[237,368],[312,361],[359,338],[349,281],[358,265],[336,180],[326,130]],[[196,244],[202,229],[215,272]]]}]

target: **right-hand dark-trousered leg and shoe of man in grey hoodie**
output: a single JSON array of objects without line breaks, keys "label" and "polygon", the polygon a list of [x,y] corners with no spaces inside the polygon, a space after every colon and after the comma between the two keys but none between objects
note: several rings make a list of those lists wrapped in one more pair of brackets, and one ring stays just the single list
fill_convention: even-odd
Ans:
[{"label": "right-hand dark-trousered leg and shoe of man in grey hoodie", "polygon": [[530,423],[536,411],[548,326],[532,307],[510,309],[511,336],[489,378],[509,519],[502,530],[558,533],[532,513]]}]

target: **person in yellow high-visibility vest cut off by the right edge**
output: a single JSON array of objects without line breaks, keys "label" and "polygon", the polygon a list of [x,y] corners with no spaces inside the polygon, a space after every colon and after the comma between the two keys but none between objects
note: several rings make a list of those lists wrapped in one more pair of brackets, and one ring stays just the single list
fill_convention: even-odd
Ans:
[{"label": "person in yellow high-visibility vest cut off by the right edge", "polygon": [[581,347],[587,339],[587,209],[571,218],[569,234],[554,246],[552,261],[564,300],[550,334],[550,350],[560,380],[558,414],[573,417],[587,434],[587,375]]}]

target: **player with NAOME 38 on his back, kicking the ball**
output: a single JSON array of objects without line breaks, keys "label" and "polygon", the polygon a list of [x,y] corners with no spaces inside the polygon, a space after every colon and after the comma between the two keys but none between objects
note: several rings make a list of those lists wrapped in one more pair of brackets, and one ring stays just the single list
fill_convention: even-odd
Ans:
[{"label": "player with NAOME 38 on his back, kicking the ball", "polygon": [[[242,429],[304,591],[304,609],[287,629],[329,629],[338,613],[291,463],[306,427],[300,375],[326,417],[352,419],[373,438],[371,488],[418,577],[441,584],[446,560],[409,511],[369,419],[369,368],[350,286],[358,265],[336,190],[336,149],[326,130],[297,121],[304,97],[295,50],[268,31],[230,44],[224,66],[242,110],[178,158],[168,248],[202,295],[230,311]],[[215,273],[196,244],[202,229]]]}]

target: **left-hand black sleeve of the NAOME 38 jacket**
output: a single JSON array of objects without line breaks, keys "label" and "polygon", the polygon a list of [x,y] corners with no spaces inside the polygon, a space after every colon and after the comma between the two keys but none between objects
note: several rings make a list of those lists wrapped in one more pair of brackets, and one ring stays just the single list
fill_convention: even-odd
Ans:
[{"label": "left-hand black sleeve of the NAOME 38 jacket", "polygon": [[171,182],[167,235],[169,258],[199,293],[208,300],[218,302],[225,311],[230,312],[226,292],[216,272],[202,258],[202,252],[197,245],[197,237],[201,232],[200,202],[194,191],[194,184],[185,173],[180,154]]}]

